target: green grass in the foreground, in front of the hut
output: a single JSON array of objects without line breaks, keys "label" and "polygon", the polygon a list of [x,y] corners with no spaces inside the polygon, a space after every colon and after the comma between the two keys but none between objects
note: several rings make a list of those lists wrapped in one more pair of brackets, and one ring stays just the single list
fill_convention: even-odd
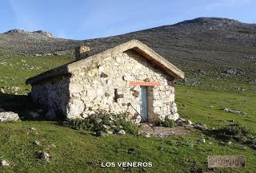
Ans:
[{"label": "green grass in the foreground, in front of the hut", "polygon": [[[31,131],[30,128],[36,128]],[[0,125],[0,157],[8,159],[11,167],[2,172],[120,172],[120,167],[102,168],[93,163],[152,162],[153,167],[134,167],[129,172],[190,172],[202,168],[207,171],[208,155],[246,155],[246,172],[253,172],[256,155],[250,148],[239,144],[221,144],[206,136],[206,144],[200,142],[197,132],[188,136],[174,136],[161,140],[143,136],[107,136],[100,138],[82,131],[64,128],[54,122],[16,122]],[[34,140],[41,142],[35,147]],[[209,144],[209,141],[214,141]],[[56,147],[51,147],[54,144]],[[134,148],[132,154],[129,148]],[[35,159],[34,152],[47,151],[50,163]],[[224,171],[214,169],[208,171]],[[243,168],[226,169],[226,172],[242,172]]]}]

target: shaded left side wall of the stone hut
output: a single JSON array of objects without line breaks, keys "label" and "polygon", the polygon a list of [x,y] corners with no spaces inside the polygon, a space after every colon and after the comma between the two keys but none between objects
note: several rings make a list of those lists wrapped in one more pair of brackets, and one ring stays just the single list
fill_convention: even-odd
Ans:
[{"label": "shaded left side wall of the stone hut", "polygon": [[69,83],[70,77],[52,77],[51,80],[33,84],[32,100],[66,116],[66,104],[70,99]]}]

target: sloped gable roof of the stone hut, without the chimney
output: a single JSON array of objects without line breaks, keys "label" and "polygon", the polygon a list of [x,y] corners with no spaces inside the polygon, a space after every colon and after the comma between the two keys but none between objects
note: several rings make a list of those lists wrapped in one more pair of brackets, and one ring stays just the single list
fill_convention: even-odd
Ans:
[{"label": "sloped gable roof of the stone hut, without the chimney", "polygon": [[121,45],[116,45],[113,48],[106,49],[101,53],[96,53],[90,57],[79,61],[73,61],[66,65],[59,66],[58,68],[51,69],[45,73],[38,74],[35,77],[30,77],[26,80],[26,85],[37,83],[38,81],[45,80],[50,77],[62,76],[68,73],[72,73],[78,69],[90,67],[91,65],[96,64],[98,61],[101,61],[105,57],[112,57],[118,53],[122,53],[126,50],[133,49],[139,53],[142,57],[145,57],[151,63],[154,63],[159,68],[164,70],[170,76],[176,79],[184,78],[184,73],[175,67],[170,61],[167,61],[165,58],[161,57],[158,53],[155,53],[154,50],[150,49],[148,46],[142,44],[138,40],[131,40]]}]

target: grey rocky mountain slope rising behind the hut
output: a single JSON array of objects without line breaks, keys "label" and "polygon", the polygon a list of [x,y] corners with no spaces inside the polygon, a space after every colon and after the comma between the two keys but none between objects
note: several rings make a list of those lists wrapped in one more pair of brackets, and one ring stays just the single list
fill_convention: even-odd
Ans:
[{"label": "grey rocky mountain slope rising behind the hut", "polygon": [[0,48],[26,55],[71,54],[78,45],[98,53],[130,39],[138,39],[174,65],[239,66],[256,62],[256,25],[226,18],[196,18],[114,37],[85,41],[49,37],[26,31],[0,34]]}]

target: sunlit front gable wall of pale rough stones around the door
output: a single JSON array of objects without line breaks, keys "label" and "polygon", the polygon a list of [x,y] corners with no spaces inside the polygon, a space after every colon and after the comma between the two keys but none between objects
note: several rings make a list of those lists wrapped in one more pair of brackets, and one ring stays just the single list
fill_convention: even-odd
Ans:
[{"label": "sunlit front gable wall of pale rough stones around the door", "polygon": [[106,57],[90,69],[79,69],[70,78],[70,100],[67,117],[85,118],[100,112],[128,113],[134,120],[138,112],[139,86],[129,86],[128,81],[158,81],[160,86],[153,88],[153,108],[150,114],[154,120],[178,119],[174,103],[174,79],[166,76],[161,69],[154,67],[133,50]]}]

